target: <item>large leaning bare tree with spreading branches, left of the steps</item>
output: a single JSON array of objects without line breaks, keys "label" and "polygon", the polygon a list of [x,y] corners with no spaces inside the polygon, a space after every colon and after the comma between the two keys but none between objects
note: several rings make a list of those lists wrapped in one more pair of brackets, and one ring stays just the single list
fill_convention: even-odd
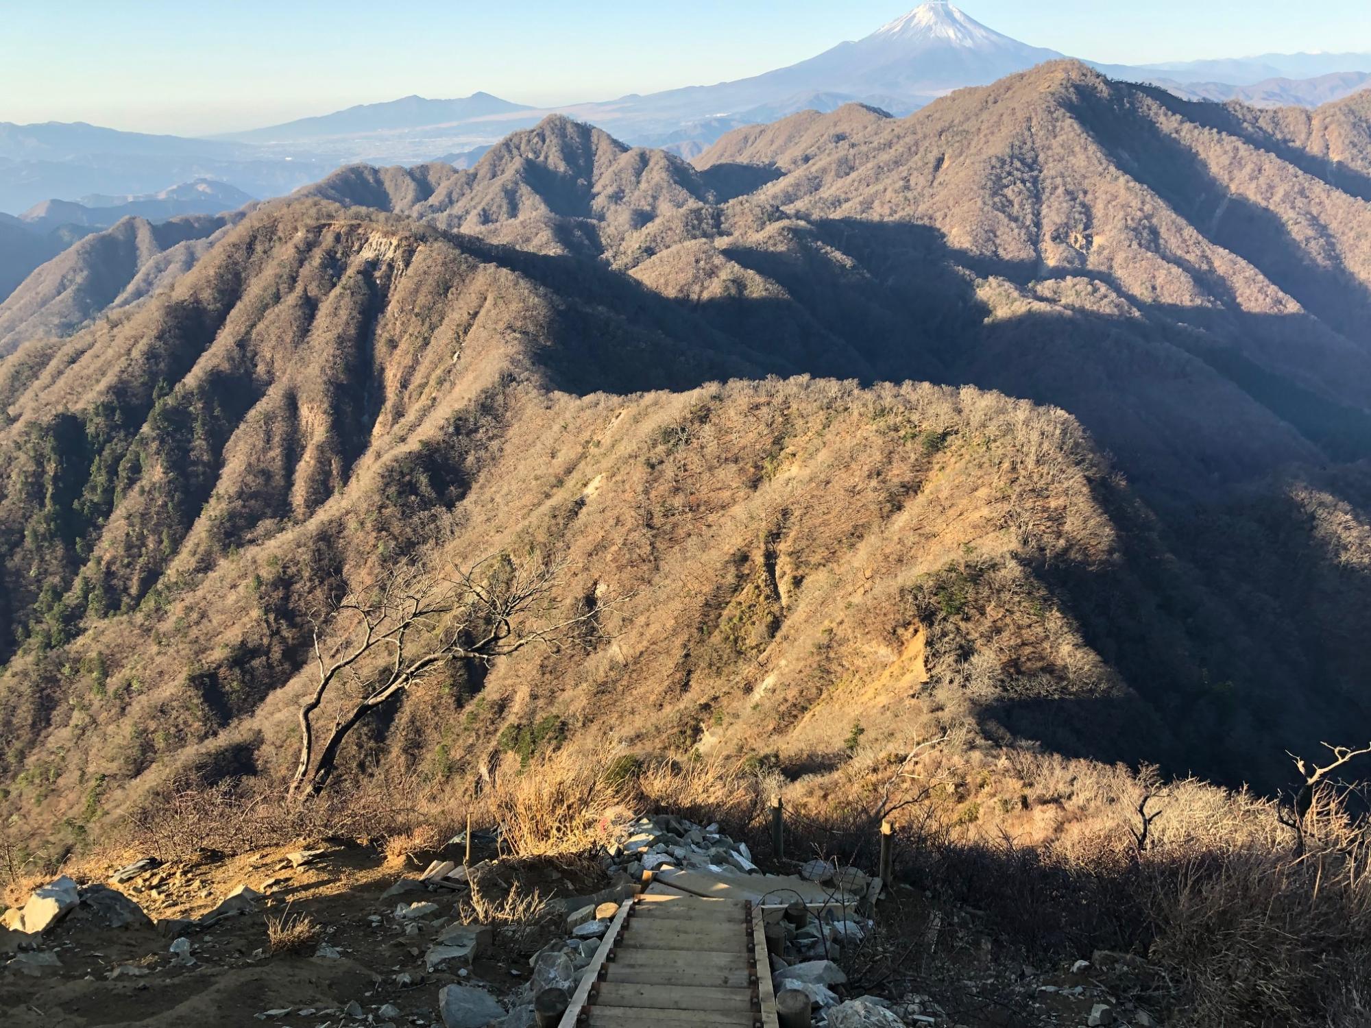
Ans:
[{"label": "large leaning bare tree with spreading branches, left of the steps", "polygon": [[[600,635],[603,613],[628,596],[583,599],[566,609],[558,595],[566,572],[565,558],[544,556],[520,563],[499,555],[450,574],[406,562],[322,611],[314,625],[318,684],[300,705],[300,757],[289,795],[322,791],[348,733],[444,665],[489,665],[533,644],[588,646]],[[330,628],[341,641],[326,654]],[[315,755],[313,717],[335,687],[348,698]]]}]

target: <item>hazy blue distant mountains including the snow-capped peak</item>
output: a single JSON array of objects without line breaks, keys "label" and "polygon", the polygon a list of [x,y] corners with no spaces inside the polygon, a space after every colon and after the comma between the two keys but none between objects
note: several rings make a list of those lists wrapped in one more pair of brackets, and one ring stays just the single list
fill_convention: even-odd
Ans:
[{"label": "hazy blue distant mountains including the snow-capped peak", "polygon": [[[233,182],[254,196],[278,196],[352,162],[417,164],[452,158],[465,167],[484,147],[548,114],[694,158],[746,125],[803,110],[827,114],[849,103],[902,117],[954,89],[986,85],[1060,56],[994,32],[947,0],[931,0],[861,40],[790,67],[558,108],[532,108],[480,92],[452,100],[407,96],[213,140],[82,123],[0,123],[0,211],[90,192],[149,193],[202,177]],[[1193,100],[1313,107],[1366,88],[1371,55],[1264,53],[1093,67]]]}]

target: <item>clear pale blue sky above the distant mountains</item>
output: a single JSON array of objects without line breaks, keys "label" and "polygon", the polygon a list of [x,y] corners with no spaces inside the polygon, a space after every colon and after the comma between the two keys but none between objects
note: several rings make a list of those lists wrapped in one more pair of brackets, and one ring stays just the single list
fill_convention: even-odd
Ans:
[{"label": "clear pale blue sky above the distant mountains", "polygon": [[[740,78],[914,0],[0,0],[0,121],[256,127],[409,93],[533,104]],[[1024,42],[1111,63],[1371,51],[1368,0],[962,0]]]}]

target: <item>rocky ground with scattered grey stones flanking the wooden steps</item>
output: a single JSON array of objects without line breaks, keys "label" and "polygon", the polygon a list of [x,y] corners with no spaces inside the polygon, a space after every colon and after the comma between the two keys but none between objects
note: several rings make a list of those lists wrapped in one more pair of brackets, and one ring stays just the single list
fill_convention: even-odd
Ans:
[{"label": "rocky ground with scattered grey stones flanking the wooden steps", "polygon": [[[12,1028],[525,1027],[532,996],[573,988],[643,870],[762,870],[716,825],[624,820],[574,861],[462,866],[454,840],[406,865],[344,840],[226,857],[200,853],[62,877],[5,911],[0,1012]],[[821,861],[802,872],[856,907],[783,920],[777,991],[808,992],[817,1025],[1158,1024],[1154,981],[1124,954],[1030,966],[975,911]],[[857,913],[853,913],[856,909]]]}]

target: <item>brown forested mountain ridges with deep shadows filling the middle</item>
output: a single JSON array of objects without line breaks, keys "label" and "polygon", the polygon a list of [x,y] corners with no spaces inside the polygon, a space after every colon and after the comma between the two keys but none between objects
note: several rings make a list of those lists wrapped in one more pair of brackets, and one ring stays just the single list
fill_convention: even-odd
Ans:
[{"label": "brown forested mountain ridges with deep shadows filling the middle", "polygon": [[454,666],[350,769],[551,718],[838,773],[856,721],[1279,784],[1368,714],[1367,111],[1054,62],[695,163],[553,117],[103,289],[86,240],[0,306],[4,803],[282,776],[339,583],[531,548],[611,639]]}]

